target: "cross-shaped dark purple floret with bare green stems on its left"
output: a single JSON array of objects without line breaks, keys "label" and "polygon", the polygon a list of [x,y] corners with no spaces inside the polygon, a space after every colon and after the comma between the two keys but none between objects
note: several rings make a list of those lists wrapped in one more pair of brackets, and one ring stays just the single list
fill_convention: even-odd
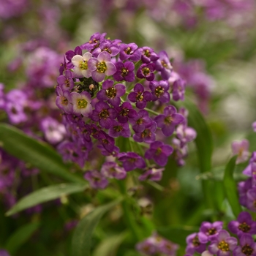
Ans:
[{"label": "cross-shaped dark purple floret with bare green stems on its left", "polygon": [[136,107],[143,109],[146,107],[147,102],[152,99],[152,94],[149,91],[144,91],[144,87],[141,83],[136,83],[133,91],[128,95],[128,99],[131,102],[136,102]]}]

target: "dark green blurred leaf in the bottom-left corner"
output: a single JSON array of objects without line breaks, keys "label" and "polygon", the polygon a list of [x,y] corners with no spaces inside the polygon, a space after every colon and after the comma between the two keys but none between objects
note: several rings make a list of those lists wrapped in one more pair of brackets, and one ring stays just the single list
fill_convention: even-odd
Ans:
[{"label": "dark green blurred leaf in the bottom-left corner", "polygon": [[5,248],[11,255],[15,255],[15,252],[19,249],[20,246],[26,243],[29,238],[33,235],[34,231],[39,227],[39,222],[32,222],[23,227],[20,227],[15,233],[10,236],[7,241]]}]

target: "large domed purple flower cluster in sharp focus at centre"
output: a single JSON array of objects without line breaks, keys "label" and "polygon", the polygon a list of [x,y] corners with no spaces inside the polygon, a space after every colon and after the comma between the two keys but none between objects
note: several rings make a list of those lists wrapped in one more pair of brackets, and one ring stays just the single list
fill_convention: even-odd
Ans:
[{"label": "large domed purple flower cluster in sharp focus at centre", "polygon": [[61,64],[56,105],[70,138],[59,151],[80,167],[95,157],[91,152],[112,157],[94,167],[100,172],[86,173],[94,188],[136,168],[144,171],[140,180],[159,180],[163,169],[157,165],[164,167],[173,151],[183,165],[187,143],[196,136],[187,126],[187,110],[170,105],[171,95],[174,101],[184,99],[184,86],[177,87],[179,93],[171,91],[173,67],[165,51],[157,54],[105,36],[93,34],[89,42],[67,51]]}]

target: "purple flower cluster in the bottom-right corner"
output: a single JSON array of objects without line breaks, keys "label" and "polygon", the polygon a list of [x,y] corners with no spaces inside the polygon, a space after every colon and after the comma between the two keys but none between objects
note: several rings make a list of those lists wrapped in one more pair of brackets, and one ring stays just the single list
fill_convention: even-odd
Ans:
[{"label": "purple flower cluster in the bottom-right corner", "polygon": [[[230,236],[227,230],[222,229],[222,222],[203,222],[198,233],[187,236],[187,255],[195,252],[206,255],[234,256],[255,255],[256,243],[252,238],[256,234],[256,222],[248,212],[241,212],[236,221],[228,224],[229,230],[239,238]],[[206,253],[207,252],[207,253]]]}]

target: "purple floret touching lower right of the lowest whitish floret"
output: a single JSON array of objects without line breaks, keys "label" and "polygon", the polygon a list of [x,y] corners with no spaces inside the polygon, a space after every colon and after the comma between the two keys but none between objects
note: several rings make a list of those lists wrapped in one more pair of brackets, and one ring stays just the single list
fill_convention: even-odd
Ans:
[{"label": "purple floret touching lower right of the lowest whitish floret", "polygon": [[109,129],[113,125],[113,119],[117,116],[116,110],[110,108],[106,102],[97,102],[95,110],[92,111],[91,120],[99,121],[99,124]]}]

